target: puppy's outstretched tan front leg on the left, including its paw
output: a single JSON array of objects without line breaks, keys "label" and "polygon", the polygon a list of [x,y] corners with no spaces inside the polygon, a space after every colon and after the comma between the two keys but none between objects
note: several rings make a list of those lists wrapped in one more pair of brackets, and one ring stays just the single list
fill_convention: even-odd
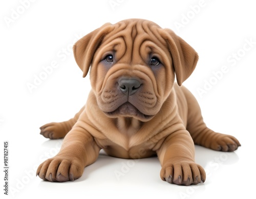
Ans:
[{"label": "puppy's outstretched tan front leg on the left, including its paw", "polygon": [[84,167],[96,161],[99,150],[89,132],[74,127],[64,138],[59,153],[41,163],[36,174],[51,182],[74,181],[80,178]]}]

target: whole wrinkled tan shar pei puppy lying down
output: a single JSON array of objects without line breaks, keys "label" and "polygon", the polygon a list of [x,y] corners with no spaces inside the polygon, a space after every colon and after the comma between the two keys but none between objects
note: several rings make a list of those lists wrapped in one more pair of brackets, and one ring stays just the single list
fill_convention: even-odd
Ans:
[{"label": "whole wrinkled tan shar pei puppy lying down", "polygon": [[40,127],[46,138],[64,138],[58,154],[39,165],[41,179],[74,181],[103,149],[124,159],[157,156],[163,181],[198,184],[206,174],[195,163],[194,144],[220,151],[240,146],[205,125],[197,100],[182,86],[198,55],[172,30],[122,20],[82,37],[73,51],[83,77],[90,69],[92,90],[74,118]]}]

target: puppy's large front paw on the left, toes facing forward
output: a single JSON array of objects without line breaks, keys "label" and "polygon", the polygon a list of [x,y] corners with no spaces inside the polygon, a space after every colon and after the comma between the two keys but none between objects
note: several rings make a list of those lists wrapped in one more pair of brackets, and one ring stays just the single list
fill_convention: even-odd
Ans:
[{"label": "puppy's large front paw on the left, toes facing forward", "polygon": [[37,168],[36,175],[50,182],[74,181],[82,176],[84,167],[72,158],[54,157]]}]

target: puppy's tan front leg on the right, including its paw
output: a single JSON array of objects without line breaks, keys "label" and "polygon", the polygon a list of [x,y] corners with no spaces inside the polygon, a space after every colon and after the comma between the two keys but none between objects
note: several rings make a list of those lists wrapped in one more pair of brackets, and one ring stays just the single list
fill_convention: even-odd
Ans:
[{"label": "puppy's tan front leg on the right, including its paw", "polygon": [[170,134],[157,150],[162,165],[161,179],[177,185],[190,185],[204,182],[204,169],[195,163],[195,146],[185,129]]}]

